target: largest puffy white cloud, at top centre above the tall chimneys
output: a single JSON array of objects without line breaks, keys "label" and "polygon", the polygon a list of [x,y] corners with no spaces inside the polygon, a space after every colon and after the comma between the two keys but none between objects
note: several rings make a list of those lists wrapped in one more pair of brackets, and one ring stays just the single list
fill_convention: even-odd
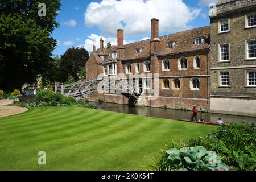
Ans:
[{"label": "largest puffy white cloud, at top centre above the tall chimneys", "polygon": [[115,36],[118,28],[125,34],[141,36],[150,32],[150,19],[158,18],[161,32],[188,29],[188,23],[200,14],[182,0],[102,0],[88,5],[85,24],[97,26],[102,34]]}]

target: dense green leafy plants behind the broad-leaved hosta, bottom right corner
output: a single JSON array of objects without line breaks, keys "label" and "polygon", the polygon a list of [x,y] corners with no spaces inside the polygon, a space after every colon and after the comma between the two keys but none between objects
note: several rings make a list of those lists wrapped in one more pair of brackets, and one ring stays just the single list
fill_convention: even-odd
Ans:
[{"label": "dense green leafy plants behind the broad-leaved hosta, bottom right corner", "polygon": [[254,170],[256,168],[256,133],[254,123],[231,123],[217,127],[204,138],[191,137],[189,146],[202,145],[207,150],[218,152],[233,170]]}]

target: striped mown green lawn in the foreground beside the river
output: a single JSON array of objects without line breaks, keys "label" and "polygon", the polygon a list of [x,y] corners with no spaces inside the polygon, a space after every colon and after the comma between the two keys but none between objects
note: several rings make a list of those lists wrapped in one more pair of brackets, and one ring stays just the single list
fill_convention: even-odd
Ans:
[{"label": "striped mown green lawn in the foreground beside the river", "polygon": [[[214,126],[82,107],[38,107],[0,118],[0,170],[144,170],[171,139]],[[46,165],[38,152],[46,151]]]}]

